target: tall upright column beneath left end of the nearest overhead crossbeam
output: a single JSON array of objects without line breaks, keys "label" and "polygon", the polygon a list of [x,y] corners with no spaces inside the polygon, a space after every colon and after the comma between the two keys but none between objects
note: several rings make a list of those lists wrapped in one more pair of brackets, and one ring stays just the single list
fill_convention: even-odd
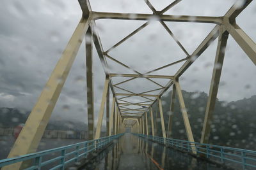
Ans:
[{"label": "tall upright column beneath left end of the nearest overhead crossbeam", "polygon": [[88,140],[94,139],[94,96],[93,96],[93,54],[92,54],[92,27],[86,32],[86,87],[87,87],[87,118]]}]

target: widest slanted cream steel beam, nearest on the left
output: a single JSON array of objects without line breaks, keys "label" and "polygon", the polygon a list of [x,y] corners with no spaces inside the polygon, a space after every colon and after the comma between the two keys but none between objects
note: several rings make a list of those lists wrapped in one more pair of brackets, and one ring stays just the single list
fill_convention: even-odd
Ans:
[{"label": "widest slanted cream steel beam, nearest on the left", "polygon": [[[81,45],[84,33],[87,31],[89,19],[82,18],[76,27],[72,37],[63,51],[60,60],[52,71],[44,90],[24,125],[19,137],[15,141],[8,158],[17,157],[36,152],[36,148],[42,138],[45,127],[49,122],[52,110],[60,96],[61,89],[67,79],[70,68],[74,62],[79,46]],[[3,169],[19,169],[22,162],[5,166]]]}]

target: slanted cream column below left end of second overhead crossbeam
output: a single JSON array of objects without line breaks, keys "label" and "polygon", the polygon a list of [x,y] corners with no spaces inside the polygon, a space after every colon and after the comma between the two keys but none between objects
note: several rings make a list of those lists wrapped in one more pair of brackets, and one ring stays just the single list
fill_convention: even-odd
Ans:
[{"label": "slanted cream column below left end of second overhead crossbeam", "polygon": [[96,132],[95,132],[95,139],[100,138],[100,131],[101,131],[101,127],[102,127],[102,120],[103,120],[103,115],[104,115],[104,106],[105,106],[106,97],[107,97],[107,93],[108,93],[108,86],[109,86],[109,78],[106,77],[106,80],[105,80],[105,83],[104,83],[104,89],[103,89],[103,92],[102,92],[99,118],[98,118],[98,123],[97,123],[97,129],[96,129]]}]

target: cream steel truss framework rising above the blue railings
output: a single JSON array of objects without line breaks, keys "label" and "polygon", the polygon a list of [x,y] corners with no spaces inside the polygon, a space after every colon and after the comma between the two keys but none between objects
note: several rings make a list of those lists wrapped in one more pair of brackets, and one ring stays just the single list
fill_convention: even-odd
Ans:
[{"label": "cream steel truss framework rising above the blue railings", "polygon": [[[106,104],[107,113],[107,134],[118,134],[124,132],[124,127],[129,125],[132,127],[132,132],[138,132],[140,134],[148,134],[148,128],[152,130],[152,136],[154,136],[154,120],[152,105],[157,103],[159,110],[159,117],[161,119],[161,129],[163,137],[166,138],[172,134],[172,118],[175,94],[179,99],[179,105],[186,128],[186,134],[189,142],[194,142],[193,132],[189,124],[188,113],[182,96],[182,91],[179,83],[180,76],[195,62],[198,57],[207,49],[214,39],[218,38],[218,46],[216,50],[215,64],[219,64],[220,67],[214,67],[212,72],[211,87],[209,90],[209,98],[207,101],[207,107],[205,111],[204,128],[202,130],[201,143],[208,143],[212,113],[215,106],[216,96],[218,93],[218,86],[220,83],[221,68],[223,59],[225,56],[225,47],[227,45],[228,36],[232,36],[237,44],[248,55],[252,62],[256,65],[256,45],[253,40],[237,25],[236,17],[243,11],[252,0],[243,1],[241,6],[237,7],[234,4],[223,16],[191,16],[191,15],[165,15],[164,13],[181,0],[173,1],[163,10],[156,10],[150,1],[145,0],[148,8],[152,11],[152,14],[147,13],[112,13],[105,11],[93,11],[88,0],[79,0],[83,16],[76,27],[67,47],[63,51],[63,54],[56,65],[54,71],[47,81],[45,88],[42,91],[41,96],[38,98],[35,107],[31,111],[26,125],[20,132],[19,138],[15,142],[8,157],[15,155],[24,155],[27,153],[35,152],[42,134],[45,130],[49,118],[51,117],[52,110],[58,100],[61,89],[67,79],[67,75],[70,71],[72,63],[76,57],[77,51],[84,36],[86,36],[86,85],[87,85],[87,102],[88,102],[88,130],[89,139],[98,139],[100,137],[100,131],[102,127],[102,120],[104,115],[104,108]],[[122,43],[127,41],[135,34],[143,31],[145,27],[150,24],[150,18],[157,18],[164,30],[170,35],[175,43],[179,46],[180,50],[184,53],[184,58],[175,60],[170,63],[163,63],[162,66],[146,71],[145,73],[134,69],[118,59],[111,56],[110,52],[115,48],[118,48]],[[141,25],[130,34],[125,36],[120,41],[116,42],[108,49],[102,47],[100,41],[99,32],[97,31],[97,25],[95,20],[101,19],[113,19],[113,20],[145,20],[145,24]],[[204,38],[204,40],[196,47],[196,49],[189,53],[188,50],[180,43],[172,29],[166,25],[166,22],[196,22],[204,24],[214,24],[214,28]],[[99,118],[97,122],[97,128],[94,130],[94,102],[93,102],[93,70],[92,70],[92,43],[94,43],[97,54],[101,61],[102,67],[106,74],[106,80],[104,82],[104,89],[102,93],[102,101],[100,104]],[[108,60],[115,62],[116,64],[129,69],[131,73],[111,73],[108,69]],[[134,61],[136,62],[136,61]],[[175,74],[154,74],[156,71],[163,70],[166,67],[174,66],[176,64],[182,64]],[[125,78],[125,80],[118,83],[113,83],[114,78]],[[56,78],[61,78],[63,81],[56,81]],[[131,83],[136,80],[145,80],[154,88],[145,90],[143,92],[134,92],[131,89],[122,87],[125,83]],[[164,85],[156,80],[168,80]],[[163,109],[161,97],[164,92],[172,87],[172,102],[170,106],[170,118],[168,121],[168,129],[164,127]],[[109,90],[113,94],[113,103],[109,106]],[[135,100],[136,97],[136,100]],[[140,98],[140,99],[138,99]],[[50,101],[50,102],[49,102]],[[135,102],[134,102],[135,101]],[[137,102],[138,101],[138,102]],[[40,114],[38,114],[40,112]],[[131,123],[132,122],[132,123]],[[151,122],[151,124],[150,124]],[[32,128],[31,128],[32,127]],[[24,145],[26,143],[26,145]],[[193,147],[193,146],[191,146]],[[19,163],[19,166],[21,163]]]}]

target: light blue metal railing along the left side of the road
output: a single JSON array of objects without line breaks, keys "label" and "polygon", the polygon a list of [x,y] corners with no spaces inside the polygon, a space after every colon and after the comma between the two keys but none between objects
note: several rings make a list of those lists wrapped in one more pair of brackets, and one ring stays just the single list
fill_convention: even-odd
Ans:
[{"label": "light blue metal railing along the left side of the road", "polygon": [[[120,136],[122,135],[123,134],[116,134],[113,136],[84,141],[81,143],[63,146],[60,148],[53,148],[51,150],[45,150],[42,152],[29,153],[27,155],[21,155],[19,157],[3,159],[0,160],[0,167],[8,166],[25,160],[32,160],[31,166],[26,168],[26,170],[41,169],[41,167],[47,165],[49,166],[52,163],[55,164],[51,168],[47,167],[47,169],[64,169],[66,164],[70,162],[77,162],[79,159],[85,158],[88,153],[103,148],[104,146],[111,143],[114,139],[120,138]],[[54,155],[53,158],[47,159],[47,157],[52,157],[52,155]],[[70,158],[67,159],[68,157]],[[47,160],[43,161],[43,159]]]}]

